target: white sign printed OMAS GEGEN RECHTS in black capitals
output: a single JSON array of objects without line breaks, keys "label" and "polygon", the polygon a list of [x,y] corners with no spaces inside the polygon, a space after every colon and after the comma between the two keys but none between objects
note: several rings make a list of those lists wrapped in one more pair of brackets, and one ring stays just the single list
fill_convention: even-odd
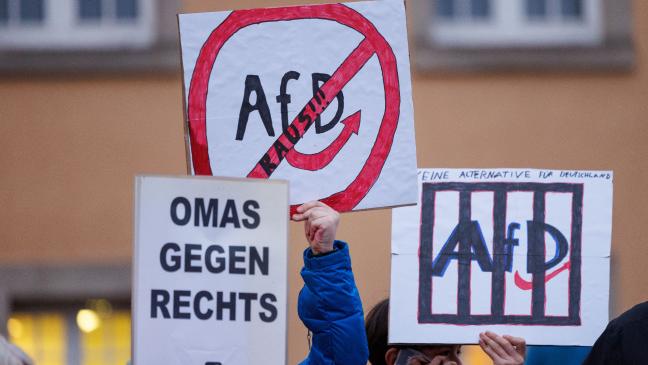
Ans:
[{"label": "white sign printed OMAS GEGEN RECHTS in black capitals", "polygon": [[285,364],[287,219],[285,181],[137,177],[133,363]]}]

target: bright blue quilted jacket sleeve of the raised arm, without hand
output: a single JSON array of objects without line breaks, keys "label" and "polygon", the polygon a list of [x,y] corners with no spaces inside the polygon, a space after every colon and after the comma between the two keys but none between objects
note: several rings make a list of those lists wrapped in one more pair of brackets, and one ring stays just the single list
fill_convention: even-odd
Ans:
[{"label": "bright blue quilted jacket sleeve of the raised arm, without hand", "polygon": [[313,333],[313,343],[301,365],[365,365],[369,357],[349,247],[335,241],[334,248],[323,256],[313,256],[310,248],[304,251],[298,312]]}]

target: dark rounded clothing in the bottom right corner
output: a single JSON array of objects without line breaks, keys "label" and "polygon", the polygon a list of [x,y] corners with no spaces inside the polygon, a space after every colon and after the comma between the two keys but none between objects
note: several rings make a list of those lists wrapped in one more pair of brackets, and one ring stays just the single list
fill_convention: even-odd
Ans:
[{"label": "dark rounded clothing in the bottom right corner", "polygon": [[648,364],[648,302],[612,320],[583,365]]}]

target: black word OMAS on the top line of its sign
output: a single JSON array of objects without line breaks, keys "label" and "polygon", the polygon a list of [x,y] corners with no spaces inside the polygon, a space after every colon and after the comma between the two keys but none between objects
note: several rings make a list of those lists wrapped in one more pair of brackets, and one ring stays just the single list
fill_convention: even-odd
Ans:
[{"label": "black word OMAS on the top line of its sign", "polygon": [[261,224],[259,209],[261,205],[256,200],[245,200],[240,205],[234,199],[227,199],[222,204],[215,198],[195,198],[192,204],[189,199],[179,196],[171,201],[170,216],[178,226],[186,226],[193,217],[196,227],[241,228],[243,223],[244,228],[255,229]]}]

